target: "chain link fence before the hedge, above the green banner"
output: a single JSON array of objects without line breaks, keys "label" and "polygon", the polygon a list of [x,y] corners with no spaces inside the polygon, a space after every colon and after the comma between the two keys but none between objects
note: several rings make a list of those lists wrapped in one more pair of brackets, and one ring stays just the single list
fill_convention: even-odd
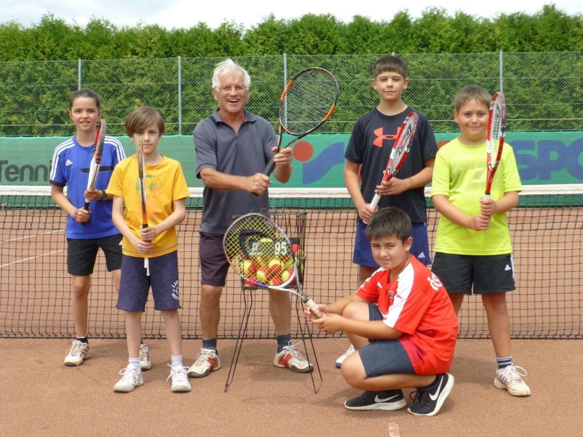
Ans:
[{"label": "chain link fence before the hedge, above the green banner", "polygon": [[[577,131],[583,125],[583,52],[398,54],[409,69],[403,100],[429,117],[434,131],[456,131],[453,100],[466,84],[503,90],[508,129]],[[251,75],[247,108],[273,122],[287,79],[308,66],[331,71],[340,83],[337,109],[322,132],[350,133],[378,96],[372,66],[381,55],[280,55],[234,58]],[[216,107],[211,77],[224,58],[0,62],[0,136],[69,136],[72,91],[103,97],[110,135],[138,105],[163,115],[168,134],[189,135]]]}]

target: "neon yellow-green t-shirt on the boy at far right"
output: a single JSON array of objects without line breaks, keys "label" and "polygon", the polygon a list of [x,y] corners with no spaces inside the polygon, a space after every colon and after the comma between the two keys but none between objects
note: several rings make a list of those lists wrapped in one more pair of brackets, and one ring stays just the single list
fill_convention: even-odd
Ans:
[{"label": "neon yellow-green t-shirt on the boy at far right", "polygon": [[[486,189],[486,143],[463,145],[456,138],[437,151],[431,181],[431,196],[442,194],[470,216],[480,213],[480,197]],[[522,191],[512,147],[504,143],[498,170],[492,182],[491,197],[501,199],[509,191]],[[458,255],[503,255],[512,252],[506,213],[490,217],[486,231],[474,231],[440,216],[436,252]]]}]

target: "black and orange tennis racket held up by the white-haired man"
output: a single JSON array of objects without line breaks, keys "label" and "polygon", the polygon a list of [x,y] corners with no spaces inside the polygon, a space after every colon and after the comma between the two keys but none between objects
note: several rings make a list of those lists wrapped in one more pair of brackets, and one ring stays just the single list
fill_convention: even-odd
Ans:
[{"label": "black and orange tennis racket held up by the white-haired man", "polygon": [[[323,68],[311,67],[297,73],[287,83],[279,100],[279,131],[275,153],[282,149],[284,132],[295,138],[283,149],[322,126],[334,112],[339,93],[338,80]],[[272,157],[265,166],[264,174],[269,176],[273,168],[275,163]]]}]

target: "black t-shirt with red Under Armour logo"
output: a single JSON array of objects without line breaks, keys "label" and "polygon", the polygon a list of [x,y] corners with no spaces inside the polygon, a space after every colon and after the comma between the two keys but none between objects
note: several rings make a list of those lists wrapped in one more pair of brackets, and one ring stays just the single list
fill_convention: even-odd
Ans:
[{"label": "black t-shirt with red Under Armour logo", "polygon": [[[354,125],[344,157],[353,163],[361,164],[360,192],[364,200],[369,203],[373,200],[375,188],[382,180],[382,172],[387,168],[387,161],[391,156],[398,129],[411,111],[415,110],[407,107],[400,114],[384,115],[374,108],[360,117]],[[425,161],[437,154],[433,129],[424,114],[420,112],[417,114],[419,124],[415,140],[413,140],[409,156],[396,175],[399,179],[416,175],[425,167]],[[381,196],[378,207],[387,206],[396,206],[405,210],[412,223],[427,221],[424,187],[413,188],[396,196]],[[358,220],[361,221],[361,218],[359,217]]]}]

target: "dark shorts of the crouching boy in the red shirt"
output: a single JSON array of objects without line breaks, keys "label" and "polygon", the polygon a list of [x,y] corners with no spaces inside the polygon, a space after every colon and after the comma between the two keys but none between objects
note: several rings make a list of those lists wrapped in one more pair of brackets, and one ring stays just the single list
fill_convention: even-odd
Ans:
[{"label": "dark shorts of the crouching boy in the red shirt", "polygon": [[[382,320],[377,305],[368,304],[368,319]],[[399,340],[374,340],[358,351],[368,378],[395,373],[415,373],[407,351]]]}]

